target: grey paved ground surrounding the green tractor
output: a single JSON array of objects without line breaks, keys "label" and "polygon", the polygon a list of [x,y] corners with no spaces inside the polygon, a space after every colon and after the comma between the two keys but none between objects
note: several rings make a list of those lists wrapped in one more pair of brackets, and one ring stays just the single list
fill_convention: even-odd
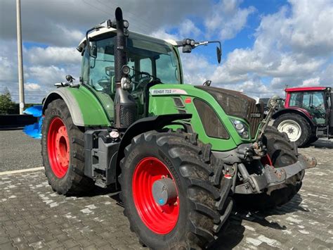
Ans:
[{"label": "grey paved ground surrounding the green tractor", "polygon": [[[0,142],[0,171],[41,165],[38,140],[0,131]],[[318,167],[308,170],[299,194],[270,213],[233,215],[212,249],[333,249],[332,148],[332,140],[320,140],[300,149]],[[60,196],[41,170],[0,175],[0,190],[0,249],[142,249],[117,194]]]}]

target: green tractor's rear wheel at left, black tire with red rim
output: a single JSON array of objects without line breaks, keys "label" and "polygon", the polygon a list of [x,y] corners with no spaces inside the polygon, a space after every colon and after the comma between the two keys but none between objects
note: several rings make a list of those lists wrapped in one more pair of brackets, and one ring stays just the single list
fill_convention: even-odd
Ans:
[{"label": "green tractor's rear wheel at left, black tire with red rim", "polygon": [[77,194],[92,186],[84,176],[84,132],[73,124],[62,99],[48,104],[41,132],[41,155],[48,184],[58,194]]}]

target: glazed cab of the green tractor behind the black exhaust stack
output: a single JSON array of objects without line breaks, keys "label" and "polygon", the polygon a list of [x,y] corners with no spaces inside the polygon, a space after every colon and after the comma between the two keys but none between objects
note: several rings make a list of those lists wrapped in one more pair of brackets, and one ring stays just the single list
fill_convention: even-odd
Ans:
[{"label": "glazed cab of the green tractor behind the black exhaust stack", "polygon": [[[114,117],[115,82],[115,29],[106,27],[91,33],[90,49],[84,39],[81,50],[81,83],[89,87],[103,104],[108,117]],[[173,41],[171,41],[173,42]],[[182,84],[178,50],[173,44],[131,32],[126,44],[128,78],[131,87],[127,91],[138,107],[138,118],[146,116],[145,103],[149,87],[159,84]]]}]

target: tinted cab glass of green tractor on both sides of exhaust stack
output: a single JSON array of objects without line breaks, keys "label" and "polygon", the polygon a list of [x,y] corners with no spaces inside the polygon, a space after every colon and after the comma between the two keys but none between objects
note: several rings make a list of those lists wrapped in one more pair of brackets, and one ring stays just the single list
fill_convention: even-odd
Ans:
[{"label": "tinted cab glass of green tractor on both sides of exhaust stack", "polygon": [[[113,35],[113,37],[97,38],[95,41],[91,41],[90,56],[88,53],[84,54],[81,74],[84,83],[98,91],[111,94],[112,89],[110,88],[115,83],[114,39]],[[170,44],[159,39],[131,33],[127,39],[126,52],[127,65],[132,69],[130,77],[134,85],[138,85],[148,77],[142,72],[152,75],[155,80],[162,83],[181,83],[178,58]]]}]

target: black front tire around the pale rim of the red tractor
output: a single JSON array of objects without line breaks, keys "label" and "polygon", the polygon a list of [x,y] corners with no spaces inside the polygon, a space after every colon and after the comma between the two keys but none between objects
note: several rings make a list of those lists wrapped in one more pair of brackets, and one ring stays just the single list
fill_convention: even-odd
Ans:
[{"label": "black front tire around the pale rim of the red tractor", "polygon": [[294,123],[297,123],[299,127],[301,127],[301,136],[296,140],[295,143],[299,147],[306,146],[312,135],[311,125],[308,123],[308,121],[296,113],[285,113],[284,115],[281,115],[274,120],[273,126],[278,128],[280,123],[285,120],[292,120]]}]

